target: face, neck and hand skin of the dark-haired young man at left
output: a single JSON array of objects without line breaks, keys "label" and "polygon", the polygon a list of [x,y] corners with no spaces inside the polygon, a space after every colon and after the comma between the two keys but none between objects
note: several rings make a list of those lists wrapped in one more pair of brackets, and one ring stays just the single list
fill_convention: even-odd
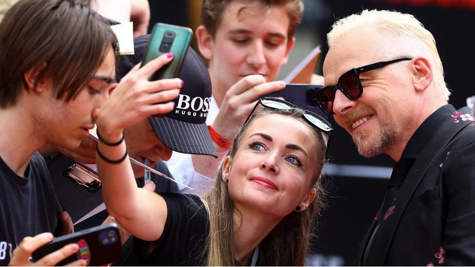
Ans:
[{"label": "face, neck and hand skin of the dark-haired young man at left", "polygon": [[[55,98],[50,78],[38,81],[34,88],[38,72],[25,72],[24,79],[28,88],[20,89],[21,93],[14,107],[0,111],[0,124],[9,125],[9,129],[0,130],[3,137],[0,140],[1,158],[18,176],[24,177],[31,155],[46,143],[70,149],[79,146],[81,138],[97,119],[99,107],[107,99],[114,76],[115,58],[110,49],[91,81],[66,103]],[[63,226],[71,226],[68,224],[71,218],[66,213],[60,219]],[[65,227],[64,231],[71,231],[71,227]],[[52,239],[51,233],[25,237],[13,251],[10,265],[33,265],[29,261],[31,253]],[[34,265],[54,266],[77,249],[77,245],[67,245]],[[85,262],[76,261],[71,265],[84,266]]]}]

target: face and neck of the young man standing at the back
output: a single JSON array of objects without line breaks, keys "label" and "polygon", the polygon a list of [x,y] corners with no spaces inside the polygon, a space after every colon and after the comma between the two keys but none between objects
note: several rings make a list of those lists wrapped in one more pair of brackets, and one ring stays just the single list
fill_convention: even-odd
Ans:
[{"label": "face and neck of the young man standing at the back", "polygon": [[200,51],[210,60],[213,96],[219,106],[226,91],[248,75],[260,74],[266,82],[277,78],[295,42],[287,36],[289,24],[282,6],[266,9],[258,2],[231,1],[223,10],[216,36],[202,26],[198,29],[203,32]]}]

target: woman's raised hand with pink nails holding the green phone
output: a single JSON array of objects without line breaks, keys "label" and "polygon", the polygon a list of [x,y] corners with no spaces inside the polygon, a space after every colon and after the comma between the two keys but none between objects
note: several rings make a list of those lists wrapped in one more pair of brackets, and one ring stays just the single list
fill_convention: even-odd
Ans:
[{"label": "woman's raised hand with pink nails holding the green phone", "polygon": [[118,141],[124,128],[173,110],[172,100],[178,97],[183,81],[179,78],[148,81],[155,71],[172,60],[173,54],[163,54],[142,68],[137,64],[122,78],[99,111],[97,127],[105,140]]}]

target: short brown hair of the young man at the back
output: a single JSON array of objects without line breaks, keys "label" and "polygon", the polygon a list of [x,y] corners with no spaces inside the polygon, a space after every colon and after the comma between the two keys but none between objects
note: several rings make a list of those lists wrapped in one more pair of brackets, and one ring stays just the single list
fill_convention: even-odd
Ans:
[{"label": "short brown hair of the young man at the back", "polygon": [[[201,23],[206,27],[209,34],[214,38],[216,31],[221,24],[222,14],[226,6],[237,0],[203,0],[201,5]],[[289,30],[287,32],[288,38],[293,37],[295,28],[302,19],[302,13],[304,11],[304,4],[302,0],[240,0],[245,3],[258,2],[266,6],[283,6],[289,16]],[[244,8],[242,8],[244,9]],[[242,10],[241,9],[241,10]],[[239,11],[240,12],[240,11]]]}]

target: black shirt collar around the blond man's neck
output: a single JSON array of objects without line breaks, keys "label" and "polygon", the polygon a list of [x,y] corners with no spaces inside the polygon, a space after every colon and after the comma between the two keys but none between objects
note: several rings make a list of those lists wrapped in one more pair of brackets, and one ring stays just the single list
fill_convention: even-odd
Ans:
[{"label": "black shirt collar around the blond man's neck", "polygon": [[401,159],[416,159],[429,140],[429,137],[435,133],[439,125],[447,120],[447,118],[450,118],[450,115],[455,111],[456,109],[452,105],[447,104],[439,107],[434,113],[425,119],[425,121],[414,132],[411,139],[409,139],[409,142],[407,142],[407,145],[402,152]]}]

